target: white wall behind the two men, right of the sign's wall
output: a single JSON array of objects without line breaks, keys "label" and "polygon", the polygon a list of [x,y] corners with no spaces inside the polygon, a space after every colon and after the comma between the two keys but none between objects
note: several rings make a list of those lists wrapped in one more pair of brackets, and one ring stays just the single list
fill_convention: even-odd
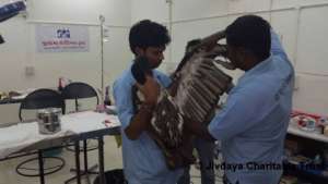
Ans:
[{"label": "white wall behind the two men, right of the sign's wall", "polygon": [[[141,19],[169,22],[166,0],[131,1],[132,23]],[[239,15],[258,14],[271,22],[294,63],[298,86],[294,109],[328,115],[327,3],[328,0],[173,0],[173,42],[166,51],[171,57],[161,69],[175,68],[188,40],[223,29]],[[232,73],[236,78],[241,74]]]}]

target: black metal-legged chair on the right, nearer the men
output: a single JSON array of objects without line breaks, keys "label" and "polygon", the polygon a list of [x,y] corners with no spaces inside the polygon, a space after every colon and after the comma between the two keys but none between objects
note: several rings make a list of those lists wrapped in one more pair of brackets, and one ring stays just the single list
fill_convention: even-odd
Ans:
[{"label": "black metal-legged chair on the right, nearer the men", "polygon": [[[98,95],[97,95],[96,90],[89,84],[81,83],[81,82],[70,83],[69,85],[67,85],[62,89],[61,96],[63,99],[75,100],[75,111],[79,111],[79,101],[78,100],[82,99],[82,98],[96,98],[96,105],[99,103],[99,99],[98,99]],[[95,164],[91,168],[87,167],[87,151],[97,149],[97,146],[87,148],[86,145],[87,145],[86,140],[83,140],[82,151],[83,151],[83,160],[84,160],[84,171],[81,171],[81,175],[85,175],[87,179],[87,182],[90,183],[89,174],[98,174],[98,173],[93,172],[93,170],[95,170],[97,168],[97,164]],[[73,149],[68,148],[68,150],[73,150]],[[71,169],[71,171],[75,171],[75,169]],[[67,180],[65,183],[67,184],[75,179],[77,179],[77,176],[73,176],[73,177]]]}]

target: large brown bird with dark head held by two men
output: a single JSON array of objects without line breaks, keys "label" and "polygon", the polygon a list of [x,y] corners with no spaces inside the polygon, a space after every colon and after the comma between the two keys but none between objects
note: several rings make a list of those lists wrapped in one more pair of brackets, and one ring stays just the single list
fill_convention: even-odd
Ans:
[{"label": "large brown bird with dark head held by two men", "polygon": [[[162,148],[168,168],[175,169],[192,162],[190,134],[184,128],[185,123],[208,122],[213,115],[220,96],[229,91],[232,77],[222,72],[215,63],[231,66],[218,60],[226,57],[226,47],[216,44],[211,49],[196,47],[188,52],[172,75],[168,88],[161,88],[155,110],[148,133]],[[152,74],[147,58],[138,58],[131,72],[138,83],[145,82],[145,75]],[[143,97],[133,87],[134,107]]]}]

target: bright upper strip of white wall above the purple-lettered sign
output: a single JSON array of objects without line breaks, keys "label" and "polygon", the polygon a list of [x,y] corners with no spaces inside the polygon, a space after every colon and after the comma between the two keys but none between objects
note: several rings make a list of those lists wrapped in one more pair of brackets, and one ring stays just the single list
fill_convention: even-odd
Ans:
[{"label": "bright upper strip of white wall above the purple-lettered sign", "polygon": [[30,19],[97,24],[99,14],[106,23],[129,26],[130,0],[28,0]]}]

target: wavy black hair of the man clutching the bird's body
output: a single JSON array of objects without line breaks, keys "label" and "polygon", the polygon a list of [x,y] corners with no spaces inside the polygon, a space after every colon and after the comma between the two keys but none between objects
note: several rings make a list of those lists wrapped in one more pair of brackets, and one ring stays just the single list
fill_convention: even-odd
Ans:
[{"label": "wavy black hair of the man clutching the bird's body", "polygon": [[134,24],[129,34],[130,49],[136,54],[136,47],[162,47],[169,44],[171,37],[167,28],[150,20],[143,20]]}]

